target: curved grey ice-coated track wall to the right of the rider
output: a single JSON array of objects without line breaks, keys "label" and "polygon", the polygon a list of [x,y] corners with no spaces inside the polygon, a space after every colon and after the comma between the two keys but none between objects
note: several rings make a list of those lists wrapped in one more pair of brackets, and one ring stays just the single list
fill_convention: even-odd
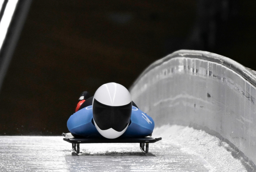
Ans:
[{"label": "curved grey ice-coated track wall to the right of the rider", "polygon": [[130,91],[156,127],[178,124],[205,130],[254,166],[255,86],[255,71],[227,57],[180,50],[146,68]]}]

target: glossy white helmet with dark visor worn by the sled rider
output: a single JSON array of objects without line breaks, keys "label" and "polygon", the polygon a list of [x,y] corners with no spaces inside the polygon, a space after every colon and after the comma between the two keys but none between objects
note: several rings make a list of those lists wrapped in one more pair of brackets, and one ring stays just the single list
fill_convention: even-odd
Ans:
[{"label": "glossy white helmet with dark visor worn by the sled rider", "polygon": [[92,112],[99,133],[108,139],[115,139],[121,136],[129,125],[132,113],[131,95],[120,84],[104,84],[94,94]]}]

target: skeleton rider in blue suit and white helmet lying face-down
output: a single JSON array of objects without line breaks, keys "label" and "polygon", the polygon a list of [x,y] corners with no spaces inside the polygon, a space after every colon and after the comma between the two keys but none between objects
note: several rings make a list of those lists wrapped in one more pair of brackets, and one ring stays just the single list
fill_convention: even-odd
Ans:
[{"label": "skeleton rider in blue suit and white helmet lying face-down", "polygon": [[131,99],[129,91],[117,83],[100,86],[93,97],[84,91],[76,112],[67,121],[74,137],[145,137],[152,134],[154,121]]}]

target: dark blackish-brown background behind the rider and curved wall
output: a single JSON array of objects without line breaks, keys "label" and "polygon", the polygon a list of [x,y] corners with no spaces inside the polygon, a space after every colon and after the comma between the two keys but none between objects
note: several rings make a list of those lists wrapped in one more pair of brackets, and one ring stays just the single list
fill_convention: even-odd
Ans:
[{"label": "dark blackish-brown background behind the rider and curved wall", "polygon": [[80,93],[129,88],[152,62],[205,50],[256,69],[255,1],[31,4],[0,92],[0,135],[60,135]]}]

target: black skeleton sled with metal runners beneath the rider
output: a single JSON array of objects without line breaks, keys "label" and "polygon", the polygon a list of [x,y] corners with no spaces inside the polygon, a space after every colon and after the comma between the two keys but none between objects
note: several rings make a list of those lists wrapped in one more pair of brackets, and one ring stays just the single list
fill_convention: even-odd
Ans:
[{"label": "black skeleton sled with metal runners beneath the rider", "polygon": [[70,133],[62,133],[65,137],[64,141],[72,144],[72,150],[74,153],[80,153],[81,143],[140,143],[141,151],[148,153],[149,143],[155,143],[162,140],[162,137],[152,138],[152,137],[142,137],[142,138],[118,138],[118,139],[106,139],[106,138],[74,138]]}]

